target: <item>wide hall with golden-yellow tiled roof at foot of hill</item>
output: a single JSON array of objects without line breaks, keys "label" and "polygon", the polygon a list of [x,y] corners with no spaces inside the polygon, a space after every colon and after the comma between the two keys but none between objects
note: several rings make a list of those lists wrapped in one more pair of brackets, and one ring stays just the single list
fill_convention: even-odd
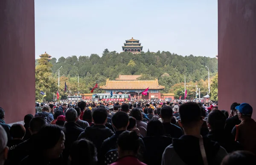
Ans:
[{"label": "wide hall with golden-yellow tiled roof at foot of hill", "polygon": [[158,84],[158,80],[137,80],[141,75],[119,75],[116,80],[107,79],[106,85],[100,86],[100,89],[106,93],[131,94],[132,98],[138,98],[141,93],[148,88],[148,94],[142,95],[142,99],[160,99],[160,91],[164,86]]}]

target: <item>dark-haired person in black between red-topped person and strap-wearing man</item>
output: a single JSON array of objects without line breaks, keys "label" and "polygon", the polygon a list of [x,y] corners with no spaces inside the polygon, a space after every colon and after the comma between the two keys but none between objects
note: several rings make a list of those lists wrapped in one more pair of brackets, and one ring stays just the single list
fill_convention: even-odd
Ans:
[{"label": "dark-haired person in black between red-topped person and strap-wearing man", "polygon": [[163,151],[172,144],[172,138],[164,136],[163,124],[158,119],[151,119],[148,122],[147,136],[143,137],[143,142],[145,145],[144,162],[147,165],[161,165]]}]

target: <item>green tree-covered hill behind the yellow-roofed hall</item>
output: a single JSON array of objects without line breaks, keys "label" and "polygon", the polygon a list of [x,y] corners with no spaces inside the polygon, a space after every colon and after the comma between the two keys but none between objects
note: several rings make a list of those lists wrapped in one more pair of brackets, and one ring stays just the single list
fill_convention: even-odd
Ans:
[{"label": "green tree-covered hill behind the yellow-roofed hall", "polygon": [[[42,58],[47,60],[47,55],[48,54],[45,55],[46,57],[43,57],[44,55],[42,54]],[[41,70],[40,68],[44,65],[43,63],[43,60],[41,60],[41,63],[40,60],[36,60],[36,74],[39,73],[37,69],[38,71]],[[45,86],[38,85],[38,83],[42,83],[41,79],[46,77],[38,79],[36,75],[36,89],[37,92],[40,90],[47,91],[49,93],[49,98],[48,96],[47,98],[50,100],[53,97],[53,93],[56,94],[58,87],[58,69],[61,67],[59,93],[62,97],[76,94],[78,91],[80,94],[89,93],[96,82],[99,85],[105,85],[106,79],[115,80],[119,74],[142,74],[140,80],[152,80],[157,78],[159,84],[165,86],[162,92],[169,93],[175,92],[172,89],[172,86],[175,84],[180,83],[179,90],[181,90],[184,75],[186,75],[187,83],[195,84],[201,82],[207,85],[208,69],[205,66],[209,68],[210,77],[217,74],[218,61],[215,58],[195,57],[193,55],[183,57],[175,53],[170,53],[169,51],[157,51],[156,53],[142,51],[141,54],[132,54],[129,52],[109,52],[108,49],[105,49],[101,57],[98,54],[91,54],[90,56],[60,57],[58,60],[52,58],[50,65],[47,66],[51,73],[51,76],[47,79],[51,81],[44,81],[43,83],[45,84],[43,85]],[[48,75],[49,74],[47,74],[47,76]],[[79,87],[77,82],[78,75]],[[64,81],[66,81],[68,87],[66,93],[64,93]],[[103,91],[99,89],[99,92]],[[207,86],[205,90],[203,89],[201,91],[202,95],[206,93]],[[37,99],[40,99],[40,95],[36,95]]]}]

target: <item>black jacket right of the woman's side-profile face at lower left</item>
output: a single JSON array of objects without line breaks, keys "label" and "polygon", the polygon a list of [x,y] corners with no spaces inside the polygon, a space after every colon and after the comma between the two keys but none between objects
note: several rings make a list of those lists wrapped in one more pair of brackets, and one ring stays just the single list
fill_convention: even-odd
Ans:
[{"label": "black jacket right of the woman's side-profile face at lower left", "polygon": [[64,161],[67,161],[69,156],[69,151],[73,142],[77,140],[79,135],[84,131],[78,124],[75,122],[67,122],[64,125],[65,132],[65,149],[63,151]]}]

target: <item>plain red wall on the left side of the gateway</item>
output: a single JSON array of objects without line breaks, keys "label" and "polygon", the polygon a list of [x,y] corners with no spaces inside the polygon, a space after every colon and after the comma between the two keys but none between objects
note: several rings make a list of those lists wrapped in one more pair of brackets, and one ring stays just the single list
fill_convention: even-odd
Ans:
[{"label": "plain red wall on the left side of the gateway", "polygon": [[0,106],[6,123],[35,114],[34,0],[0,0]]}]

